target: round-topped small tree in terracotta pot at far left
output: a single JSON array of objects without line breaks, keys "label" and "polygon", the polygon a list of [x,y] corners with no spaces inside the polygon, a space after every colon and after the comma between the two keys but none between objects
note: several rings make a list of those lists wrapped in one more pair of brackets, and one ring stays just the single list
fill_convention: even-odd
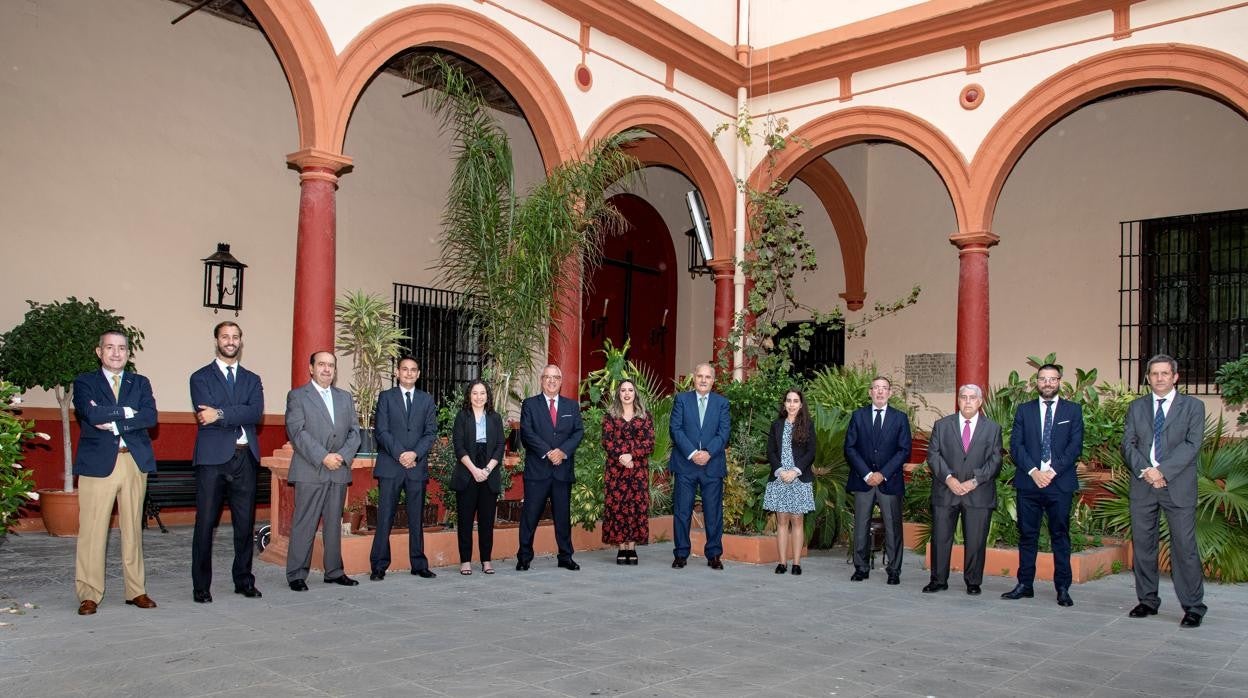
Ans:
[{"label": "round-topped small tree in terracotta pot at far left", "polygon": [[[77,534],[77,493],[74,491],[74,450],[70,442],[70,405],[74,378],[100,367],[95,348],[100,335],[114,330],[130,340],[130,356],[142,350],[144,333],[124,325],[125,317],[100,306],[95,298],[40,303],[12,330],[0,335],[0,376],[22,391],[52,391],[61,410],[61,452],[65,463],[62,489],[41,489],[40,514],[52,536]],[[126,365],[134,371],[134,363]]]}]

